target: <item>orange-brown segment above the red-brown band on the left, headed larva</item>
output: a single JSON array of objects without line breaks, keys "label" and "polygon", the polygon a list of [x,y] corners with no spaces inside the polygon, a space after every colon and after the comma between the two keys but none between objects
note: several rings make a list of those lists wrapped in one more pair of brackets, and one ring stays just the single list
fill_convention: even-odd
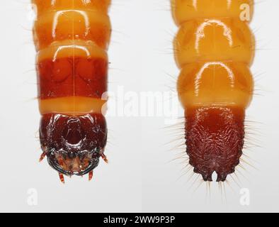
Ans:
[{"label": "orange-brown segment above the red-brown band on the left, headed larva", "polygon": [[[73,6],[74,7],[74,6]],[[110,21],[98,11],[47,11],[34,24],[37,50],[61,40],[91,40],[103,49],[110,41]]]}]

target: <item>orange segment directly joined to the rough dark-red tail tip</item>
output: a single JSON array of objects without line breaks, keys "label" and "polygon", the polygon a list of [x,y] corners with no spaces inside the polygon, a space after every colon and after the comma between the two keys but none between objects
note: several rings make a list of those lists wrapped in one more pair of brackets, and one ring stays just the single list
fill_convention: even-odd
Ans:
[{"label": "orange segment directly joined to the rough dark-red tail tip", "polygon": [[178,94],[186,109],[212,104],[246,109],[253,89],[249,67],[242,62],[190,63],[178,77]]}]

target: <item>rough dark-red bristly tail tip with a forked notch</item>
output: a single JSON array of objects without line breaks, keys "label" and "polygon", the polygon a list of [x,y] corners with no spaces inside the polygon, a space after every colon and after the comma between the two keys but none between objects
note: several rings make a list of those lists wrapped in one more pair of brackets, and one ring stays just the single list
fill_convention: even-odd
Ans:
[{"label": "rough dark-red bristly tail tip with a forked notch", "polygon": [[244,109],[207,106],[187,109],[186,145],[194,172],[224,182],[239,164],[244,145]]}]

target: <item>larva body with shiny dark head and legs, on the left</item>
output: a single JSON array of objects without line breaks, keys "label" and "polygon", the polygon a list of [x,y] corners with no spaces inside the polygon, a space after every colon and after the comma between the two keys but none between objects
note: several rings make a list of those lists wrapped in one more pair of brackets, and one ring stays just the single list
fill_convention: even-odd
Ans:
[{"label": "larva body with shiny dark head and legs, on the left", "polygon": [[63,175],[98,165],[107,140],[102,95],[107,91],[110,0],[33,0],[37,20],[40,143]]}]

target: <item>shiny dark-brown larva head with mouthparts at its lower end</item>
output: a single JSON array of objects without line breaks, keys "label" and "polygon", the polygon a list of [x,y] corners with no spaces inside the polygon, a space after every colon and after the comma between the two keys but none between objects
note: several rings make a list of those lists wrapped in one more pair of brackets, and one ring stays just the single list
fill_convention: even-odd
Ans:
[{"label": "shiny dark-brown larva head with mouthparts at its lower end", "polygon": [[102,114],[42,116],[42,150],[50,166],[64,175],[85,175],[93,170],[98,165],[106,139],[106,119]]}]

